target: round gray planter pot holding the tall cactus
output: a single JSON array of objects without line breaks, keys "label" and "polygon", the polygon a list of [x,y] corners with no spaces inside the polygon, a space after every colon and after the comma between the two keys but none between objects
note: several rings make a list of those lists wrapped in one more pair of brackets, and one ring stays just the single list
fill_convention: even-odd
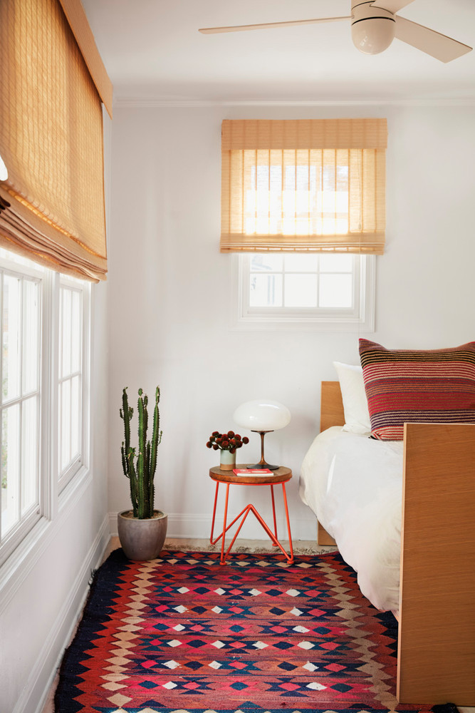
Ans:
[{"label": "round gray planter pot holding the tall cactus", "polygon": [[167,536],[168,516],[155,510],[156,517],[147,520],[133,518],[132,511],[118,513],[118,533],[124,554],[130,560],[155,560],[162,551]]}]

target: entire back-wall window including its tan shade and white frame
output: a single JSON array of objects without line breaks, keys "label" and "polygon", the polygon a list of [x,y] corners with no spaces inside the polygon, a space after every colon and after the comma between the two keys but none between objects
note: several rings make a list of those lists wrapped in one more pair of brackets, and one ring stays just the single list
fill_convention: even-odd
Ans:
[{"label": "entire back-wall window including its tan shade and white frame", "polygon": [[385,119],[224,120],[221,252],[238,324],[374,329]]}]

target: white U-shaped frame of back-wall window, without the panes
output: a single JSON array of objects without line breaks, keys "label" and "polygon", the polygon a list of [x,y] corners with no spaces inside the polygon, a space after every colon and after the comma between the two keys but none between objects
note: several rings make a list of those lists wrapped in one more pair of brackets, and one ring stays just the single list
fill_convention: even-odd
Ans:
[{"label": "white U-shaped frame of back-wall window, without the panes", "polygon": [[327,332],[374,332],[375,255],[355,255],[354,307],[319,309],[306,307],[251,307],[249,304],[250,253],[234,255],[234,326],[238,329],[303,329]]}]

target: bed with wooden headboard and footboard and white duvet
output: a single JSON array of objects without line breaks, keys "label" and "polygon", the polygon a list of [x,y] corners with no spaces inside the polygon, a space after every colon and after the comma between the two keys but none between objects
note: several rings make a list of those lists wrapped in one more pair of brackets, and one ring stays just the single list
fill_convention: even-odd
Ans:
[{"label": "bed with wooden headboard and footboard and white duvet", "polygon": [[[385,444],[343,426],[340,382],[324,381],[320,435],[300,486],[318,542],[336,541],[362,593],[397,617],[398,701],[475,706],[475,424],[405,423],[403,440]],[[364,466],[355,456],[345,501],[338,463],[348,453],[365,461],[371,446],[380,448],[379,466],[389,465],[387,502],[376,476],[367,492],[359,487]]]}]

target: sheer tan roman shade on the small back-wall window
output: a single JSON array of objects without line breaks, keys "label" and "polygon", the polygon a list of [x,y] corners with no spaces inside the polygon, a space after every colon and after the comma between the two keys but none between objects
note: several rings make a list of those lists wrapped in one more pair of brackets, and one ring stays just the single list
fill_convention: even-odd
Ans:
[{"label": "sheer tan roman shade on the small back-wall window", "polygon": [[385,245],[385,119],[224,120],[221,252]]}]

